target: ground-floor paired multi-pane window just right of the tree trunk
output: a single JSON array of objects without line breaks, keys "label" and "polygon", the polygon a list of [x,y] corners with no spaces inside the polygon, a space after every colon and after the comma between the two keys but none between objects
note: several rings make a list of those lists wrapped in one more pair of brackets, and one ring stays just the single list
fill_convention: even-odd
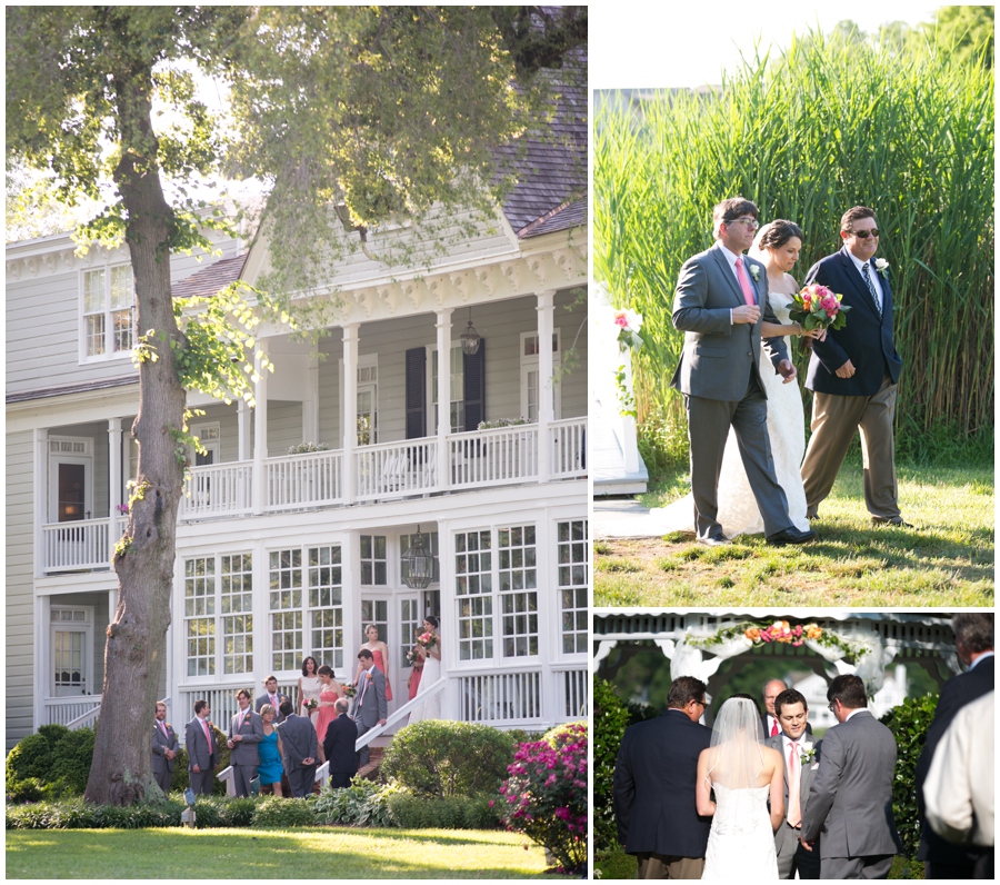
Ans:
[{"label": "ground-floor paired multi-pane window just right of the tree trunk", "polygon": [[252,673],[252,611],[250,554],[199,556],[184,560],[188,676]]}]

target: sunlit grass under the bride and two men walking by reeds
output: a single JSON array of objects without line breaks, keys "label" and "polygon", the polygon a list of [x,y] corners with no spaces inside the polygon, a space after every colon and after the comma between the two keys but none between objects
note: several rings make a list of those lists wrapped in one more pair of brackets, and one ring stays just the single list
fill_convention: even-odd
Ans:
[{"label": "sunlit grass under the bride and two men walking by reeds", "polygon": [[[692,535],[594,544],[594,605],[993,605],[991,466],[898,468],[913,529],[870,525],[859,464],[846,464],[813,524],[819,540],[768,547],[761,536],[704,547]],[[667,477],[647,507],[674,499]]]}]

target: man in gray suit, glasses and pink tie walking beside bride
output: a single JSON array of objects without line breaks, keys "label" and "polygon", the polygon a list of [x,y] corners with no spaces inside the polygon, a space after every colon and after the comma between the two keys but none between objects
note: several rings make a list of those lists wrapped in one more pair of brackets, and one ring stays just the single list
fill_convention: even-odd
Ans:
[{"label": "man in gray suit, glasses and pink tie walking beside bride", "polygon": [[[716,245],[681,268],[673,298],[673,325],[684,332],[684,349],[671,386],[684,395],[691,444],[691,491],[698,540],[728,544],[716,516],[719,470],[729,428],[763,517],[771,545],[804,544],[788,515],[788,499],[774,475],[768,437],[768,400],[759,366],[761,320],[777,322],[768,304],[768,272],[743,250],[759,227],[757,207],[742,197],[723,200],[712,213]],[[763,339],[773,370],[789,384],[796,367],[780,338]],[[763,369],[770,370],[770,369]]]}]

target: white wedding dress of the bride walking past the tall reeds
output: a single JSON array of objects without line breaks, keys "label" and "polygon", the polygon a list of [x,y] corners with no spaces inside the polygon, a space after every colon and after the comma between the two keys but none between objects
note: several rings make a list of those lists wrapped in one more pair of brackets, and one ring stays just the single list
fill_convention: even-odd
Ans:
[{"label": "white wedding dress of the bride walking past the tall reeds", "polygon": [[[794,280],[786,276],[786,281]],[[778,322],[787,325],[791,292],[769,292],[768,300]],[[786,337],[786,347],[797,340]],[[790,356],[790,355],[789,355]],[[774,461],[774,474],[778,485],[784,489],[788,498],[788,515],[796,528],[808,531],[809,520],[806,518],[806,491],[802,488],[802,475],[799,469],[806,455],[806,412],[802,407],[802,395],[797,381],[784,384],[781,376],[771,368],[771,359],[761,346],[761,378],[768,395],[768,436],[771,440],[771,457]],[[750,481],[740,458],[736,432],[730,428],[722,456],[722,469],[719,475],[719,509],[717,519],[722,533],[730,538],[737,535],[763,534],[763,517],[757,507],[757,499],[750,490]],[[673,501],[667,507],[657,507],[649,511],[654,530],[659,534],[668,531],[694,530],[694,501],[691,495]],[[783,528],[783,526],[782,526]]]}]

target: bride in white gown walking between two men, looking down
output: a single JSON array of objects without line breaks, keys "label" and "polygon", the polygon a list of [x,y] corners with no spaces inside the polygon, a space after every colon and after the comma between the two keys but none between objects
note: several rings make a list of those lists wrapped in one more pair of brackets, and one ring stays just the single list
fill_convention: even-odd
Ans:
[{"label": "bride in white gown walking between two men, looking down", "polygon": [[[792,221],[778,219],[764,225],[757,235],[750,255],[762,261],[768,269],[768,300],[778,318],[778,324],[762,324],[761,337],[801,336],[802,327],[789,319],[790,296],[799,291],[794,278],[788,272],[799,260],[802,248],[802,230]],[[806,332],[808,337],[821,337],[822,332]],[[788,342],[788,346],[791,341]],[[789,357],[791,355],[789,354]],[[788,515],[796,528],[808,531],[806,518],[806,493],[799,468],[806,455],[806,412],[802,395],[797,382],[784,384],[780,375],[767,371],[770,359],[761,354],[761,371],[764,391],[768,395],[768,436],[771,440],[771,456],[778,485],[788,498]],[[740,458],[736,434],[730,429],[722,456],[719,475],[719,509],[717,519],[727,537],[737,535],[760,535],[763,533],[763,517],[757,507],[757,499],[750,490],[747,471]],[[667,531],[694,530],[694,503],[690,495],[667,507],[658,507],[649,513],[656,529]]]}]

